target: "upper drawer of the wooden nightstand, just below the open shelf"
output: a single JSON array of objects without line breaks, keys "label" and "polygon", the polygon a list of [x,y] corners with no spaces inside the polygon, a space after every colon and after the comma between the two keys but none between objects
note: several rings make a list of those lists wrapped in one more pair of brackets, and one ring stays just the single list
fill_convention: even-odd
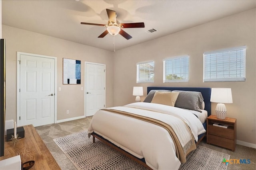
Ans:
[{"label": "upper drawer of the wooden nightstand, just below the open shelf", "polygon": [[208,126],[207,128],[208,134],[234,140],[234,129],[216,126]]}]

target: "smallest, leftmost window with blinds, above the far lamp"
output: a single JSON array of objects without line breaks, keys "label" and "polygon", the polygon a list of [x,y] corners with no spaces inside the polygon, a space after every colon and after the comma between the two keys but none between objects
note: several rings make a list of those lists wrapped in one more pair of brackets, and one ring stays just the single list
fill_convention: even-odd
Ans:
[{"label": "smallest, leftmost window with blinds, above the far lamp", "polygon": [[137,63],[137,83],[154,82],[154,61]]}]

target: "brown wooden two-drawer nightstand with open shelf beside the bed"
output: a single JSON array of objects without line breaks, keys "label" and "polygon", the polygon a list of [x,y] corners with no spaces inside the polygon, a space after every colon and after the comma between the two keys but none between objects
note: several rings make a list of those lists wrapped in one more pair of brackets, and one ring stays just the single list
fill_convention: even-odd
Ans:
[{"label": "brown wooden two-drawer nightstand with open shelf beside the bed", "polygon": [[[214,123],[228,125],[228,128],[214,126]],[[218,119],[216,115],[207,117],[207,143],[234,151],[236,149],[236,119]]]}]

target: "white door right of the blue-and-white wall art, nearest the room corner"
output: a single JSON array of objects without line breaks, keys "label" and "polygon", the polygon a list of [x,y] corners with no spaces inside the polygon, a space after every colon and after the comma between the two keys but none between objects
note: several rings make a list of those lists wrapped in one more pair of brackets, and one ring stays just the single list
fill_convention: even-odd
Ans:
[{"label": "white door right of the blue-and-white wall art, nearest the room corner", "polygon": [[85,113],[92,116],[105,107],[105,65],[85,62]]}]

